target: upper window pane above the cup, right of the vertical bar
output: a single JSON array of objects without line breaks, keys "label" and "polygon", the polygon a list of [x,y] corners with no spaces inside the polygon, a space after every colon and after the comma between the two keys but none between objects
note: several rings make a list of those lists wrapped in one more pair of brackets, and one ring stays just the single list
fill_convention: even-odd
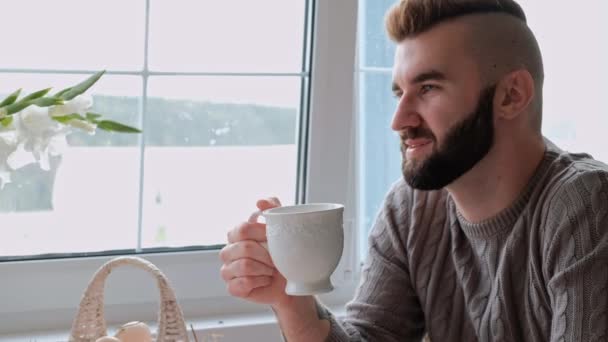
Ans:
[{"label": "upper window pane above the cup, right of the vertical bar", "polygon": [[151,1],[150,67],[299,72],[305,0]]}]

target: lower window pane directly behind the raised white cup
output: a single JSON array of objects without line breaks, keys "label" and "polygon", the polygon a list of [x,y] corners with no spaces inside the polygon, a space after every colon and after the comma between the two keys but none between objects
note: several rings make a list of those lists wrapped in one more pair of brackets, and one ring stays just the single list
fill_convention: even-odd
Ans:
[{"label": "lower window pane directly behind the raised white cup", "polygon": [[154,77],[148,95],[143,247],[224,243],[256,199],[293,203],[300,78]]}]

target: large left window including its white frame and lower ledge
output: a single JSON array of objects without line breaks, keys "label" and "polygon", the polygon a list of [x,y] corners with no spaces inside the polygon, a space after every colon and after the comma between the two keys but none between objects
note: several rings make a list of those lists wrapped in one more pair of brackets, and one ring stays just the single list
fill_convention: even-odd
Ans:
[{"label": "large left window including its white frame and lower ledge", "polygon": [[[356,3],[58,0],[9,10],[33,7],[31,30],[21,16],[0,23],[15,47],[2,54],[0,94],[107,69],[94,108],[144,132],[75,133],[50,172],[25,167],[0,192],[0,332],[69,327],[90,276],[116,254],[160,267],[187,319],[264,309],[228,296],[218,245],[261,196],[354,203]],[[354,210],[345,215],[328,300],[352,293]],[[154,320],[154,287],[120,273],[108,316]]]}]

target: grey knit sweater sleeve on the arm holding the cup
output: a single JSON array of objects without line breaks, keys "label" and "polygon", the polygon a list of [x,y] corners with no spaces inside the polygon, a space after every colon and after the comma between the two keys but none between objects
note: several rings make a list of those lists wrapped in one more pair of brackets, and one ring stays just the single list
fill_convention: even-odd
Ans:
[{"label": "grey knit sweater sleeve on the arm holding the cup", "polygon": [[[401,191],[399,191],[401,190]],[[327,341],[420,341],[424,315],[410,279],[405,236],[411,197],[394,188],[369,238],[369,252],[354,299],[344,320],[326,310],[331,323]]]}]

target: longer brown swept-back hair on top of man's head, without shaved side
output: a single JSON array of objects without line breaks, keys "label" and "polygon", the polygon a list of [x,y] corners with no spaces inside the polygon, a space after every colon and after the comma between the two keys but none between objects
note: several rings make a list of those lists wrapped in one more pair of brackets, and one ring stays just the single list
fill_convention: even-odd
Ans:
[{"label": "longer brown swept-back hair on top of man's head, without shaved side", "polygon": [[512,15],[524,23],[526,15],[513,0],[401,0],[386,15],[386,30],[395,42],[457,17],[481,13]]}]

